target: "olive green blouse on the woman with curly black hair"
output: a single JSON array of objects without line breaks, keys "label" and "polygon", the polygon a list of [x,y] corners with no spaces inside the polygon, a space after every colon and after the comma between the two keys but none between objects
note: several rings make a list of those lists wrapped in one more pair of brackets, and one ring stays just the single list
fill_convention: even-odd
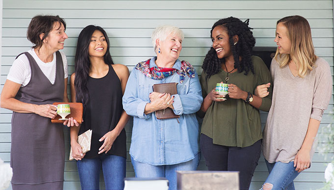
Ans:
[{"label": "olive green blouse on the woman with curly black hair", "polygon": [[[255,93],[256,86],[271,83],[270,94],[262,99],[260,110],[268,112],[271,106],[272,82],[270,72],[260,57],[251,57],[254,72],[245,71],[229,73],[228,84],[234,84],[240,89]],[[227,72],[223,69],[212,75],[208,81],[203,71],[200,79],[203,98],[215,88],[216,83],[224,82]],[[212,102],[207,112],[198,112],[204,117],[201,133],[213,139],[213,144],[232,147],[247,147],[262,139],[260,112],[242,99],[232,99],[227,96],[223,102]]]}]

